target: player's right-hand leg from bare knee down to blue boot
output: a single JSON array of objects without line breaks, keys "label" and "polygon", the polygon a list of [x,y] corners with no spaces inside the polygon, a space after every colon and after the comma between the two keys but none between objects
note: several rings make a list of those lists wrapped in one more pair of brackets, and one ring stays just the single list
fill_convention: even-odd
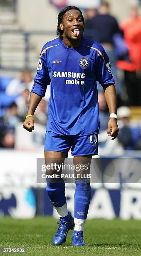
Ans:
[{"label": "player's right-hand leg from bare knee down to blue boot", "polygon": [[[83,230],[84,225],[87,219],[87,214],[89,210],[90,198],[91,198],[91,187],[90,181],[87,177],[89,174],[90,164],[91,164],[92,155],[89,156],[74,156],[74,165],[75,168],[75,195],[74,195],[74,231],[72,234],[72,245],[73,246],[84,246],[83,241]],[[85,168],[79,170],[78,166],[86,166]],[[80,177],[81,174],[82,176]]]}]

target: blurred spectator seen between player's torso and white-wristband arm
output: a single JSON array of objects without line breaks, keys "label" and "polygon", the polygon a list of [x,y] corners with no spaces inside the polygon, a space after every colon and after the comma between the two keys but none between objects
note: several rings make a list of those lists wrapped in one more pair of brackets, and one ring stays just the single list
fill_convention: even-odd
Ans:
[{"label": "blurred spectator seen between player's torso and white-wristband arm", "polygon": [[100,131],[107,129],[109,120],[109,111],[107,109],[106,100],[103,92],[98,93],[99,101],[99,118],[100,118]]}]

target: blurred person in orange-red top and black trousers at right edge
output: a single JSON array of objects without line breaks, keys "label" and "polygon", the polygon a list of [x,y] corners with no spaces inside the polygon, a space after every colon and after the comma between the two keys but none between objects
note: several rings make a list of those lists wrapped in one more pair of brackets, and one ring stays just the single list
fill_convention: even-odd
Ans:
[{"label": "blurred person in orange-red top and black trousers at right edge", "polygon": [[117,67],[124,70],[124,83],[128,95],[127,105],[141,105],[141,18],[138,8],[131,8],[130,18],[121,24],[129,49],[130,61],[118,61]]}]

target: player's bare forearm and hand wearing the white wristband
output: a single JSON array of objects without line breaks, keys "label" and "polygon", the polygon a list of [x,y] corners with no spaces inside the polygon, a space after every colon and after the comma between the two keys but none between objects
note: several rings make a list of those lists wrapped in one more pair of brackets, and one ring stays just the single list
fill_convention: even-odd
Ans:
[{"label": "player's bare forearm and hand wearing the white wristband", "polygon": [[[117,110],[117,97],[116,97],[116,89],[114,84],[110,84],[108,87],[104,88],[104,95],[106,98],[106,102],[109,108],[109,113],[116,114]],[[116,122],[116,118],[110,118],[108,122],[108,136],[113,137],[114,140],[118,136],[119,128]]]}]

